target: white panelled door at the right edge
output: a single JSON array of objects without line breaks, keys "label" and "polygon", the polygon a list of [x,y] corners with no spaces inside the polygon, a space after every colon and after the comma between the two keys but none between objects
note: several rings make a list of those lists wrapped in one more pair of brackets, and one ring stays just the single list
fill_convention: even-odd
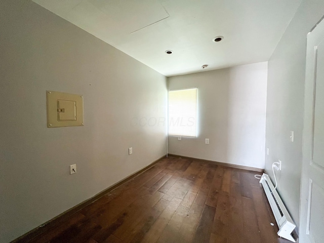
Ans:
[{"label": "white panelled door at the right edge", "polygon": [[324,21],[307,36],[300,243],[324,242]]}]

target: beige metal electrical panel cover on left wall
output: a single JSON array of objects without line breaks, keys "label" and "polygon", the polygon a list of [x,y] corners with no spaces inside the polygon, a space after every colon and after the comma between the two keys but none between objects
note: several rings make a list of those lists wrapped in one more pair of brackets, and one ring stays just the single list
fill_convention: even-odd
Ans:
[{"label": "beige metal electrical panel cover on left wall", "polygon": [[47,91],[47,127],[84,126],[83,96]]}]

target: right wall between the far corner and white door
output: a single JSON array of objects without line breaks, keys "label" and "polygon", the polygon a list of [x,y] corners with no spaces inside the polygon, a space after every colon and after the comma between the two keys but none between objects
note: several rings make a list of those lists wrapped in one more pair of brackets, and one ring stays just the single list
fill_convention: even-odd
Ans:
[{"label": "right wall between the far corner and white door", "polygon": [[[299,222],[306,35],[324,14],[324,1],[303,1],[268,62],[265,169],[282,160],[278,193]],[[290,142],[294,131],[294,142]]]}]

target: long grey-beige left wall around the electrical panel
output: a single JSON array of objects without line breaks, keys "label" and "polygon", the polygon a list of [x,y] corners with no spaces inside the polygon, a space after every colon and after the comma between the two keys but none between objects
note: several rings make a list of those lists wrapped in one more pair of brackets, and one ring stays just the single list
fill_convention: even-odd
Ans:
[{"label": "long grey-beige left wall around the electrical panel", "polygon": [[[136,120],[166,117],[167,84],[35,3],[5,0],[0,11],[0,242],[8,242],[163,156],[166,124]],[[82,94],[85,126],[47,128],[46,90]]]}]

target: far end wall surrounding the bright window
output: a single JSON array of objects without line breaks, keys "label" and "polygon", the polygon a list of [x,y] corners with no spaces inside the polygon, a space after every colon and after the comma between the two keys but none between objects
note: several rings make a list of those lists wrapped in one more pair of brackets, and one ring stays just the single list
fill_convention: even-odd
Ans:
[{"label": "far end wall surrounding the bright window", "polygon": [[267,62],[168,80],[169,90],[198,88],[199,114],[197,138],[170,136],[169,153],[264,168]]}]

